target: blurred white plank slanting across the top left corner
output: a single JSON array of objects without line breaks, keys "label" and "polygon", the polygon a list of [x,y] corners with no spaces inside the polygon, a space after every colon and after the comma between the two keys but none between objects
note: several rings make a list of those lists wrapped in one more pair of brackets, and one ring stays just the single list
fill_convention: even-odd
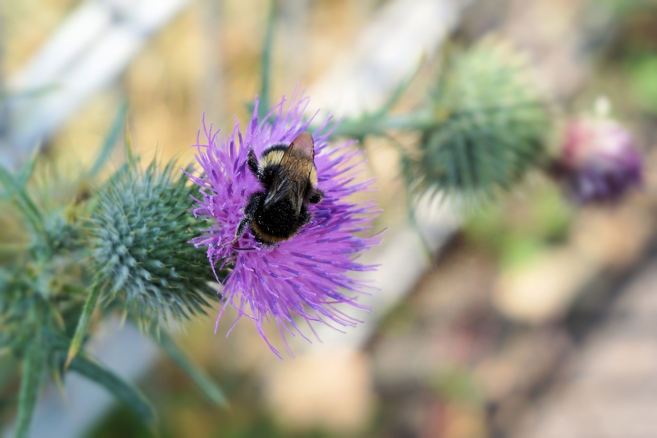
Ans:
[{"label": "blurred white plank slanting across the top left corner", "polygon": [[[0,164],[15,167],[41,139],[124,72],[148,39],[189,0],[89,0],[9,80]],[[20,93],[45,89],[37,96]]]}]

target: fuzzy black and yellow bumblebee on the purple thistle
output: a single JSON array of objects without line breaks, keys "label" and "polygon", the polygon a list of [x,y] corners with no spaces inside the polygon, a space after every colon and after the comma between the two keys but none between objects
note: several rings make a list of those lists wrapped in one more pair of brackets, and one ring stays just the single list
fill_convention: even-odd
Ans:
[{"label": "fuzzy black and yellow bumblebee on the purple thistle", "polygon": [[248,197],[244,217],[235,233],[239,239],[250,226],[256,241],[267,247],[291,239],[311,220],[308,203],[317,204],[324,193],[317,189],[315,142],[309,132],[292,143],[275,143],[260,156],[251,149],[247,164],[263,190]]}]

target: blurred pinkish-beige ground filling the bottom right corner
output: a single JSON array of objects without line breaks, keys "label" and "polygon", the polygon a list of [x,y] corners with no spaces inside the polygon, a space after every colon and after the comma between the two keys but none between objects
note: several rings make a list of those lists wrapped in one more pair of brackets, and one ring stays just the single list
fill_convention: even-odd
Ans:
[{"label": "blurred pinkish-beige ground filling the bottom right corner", "polygon": [[604,318],[528,406],[513,437],[651,437],[657,430],[657,257],[615,291]]}]

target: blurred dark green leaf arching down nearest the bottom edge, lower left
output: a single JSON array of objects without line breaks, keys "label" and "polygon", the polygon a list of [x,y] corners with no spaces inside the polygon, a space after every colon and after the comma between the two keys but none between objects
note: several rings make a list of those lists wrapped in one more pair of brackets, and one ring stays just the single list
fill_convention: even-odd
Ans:
[{"label": "blurred dark green leaf arching down nearest the bottom edge, lower left", "polygon": [[149,427],[154,428],[156,426],[157,414],[145,395],[137,387],[108,370],[99,362],[81,353],[71,361],[70,370],[104,387],[114,397],[124,402]]}]

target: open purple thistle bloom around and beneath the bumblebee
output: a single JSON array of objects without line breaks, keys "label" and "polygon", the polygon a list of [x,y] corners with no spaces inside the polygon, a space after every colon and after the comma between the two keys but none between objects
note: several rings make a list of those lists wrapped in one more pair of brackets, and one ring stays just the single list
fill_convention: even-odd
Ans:
[{"label": "open purple thistle bloom around and beneath the bumblebee", "polygon": [[358,182],[355,178],[365,161],[363,152],[350,147],[353,142],[330,147],[328,135],[334,126],[321,134],[330,123],[328,118],[312,133],[317,188],[323,191],[324,198],[320,203],[308,205],[311,222],[276,247],[258,243],[249,227],[233,243],[249,195],[262,190],[260,182],[248,168],[249,149],[254,149],[260,157],[267,146],[290,143],[309,127],[311,120],[303,120],[309,99],[295,95],[287,110],[283,109],[284,102],[285,99],[259,123],[256,97],[256,107],[246,131],[242,133],[236,118],[233,134],[229,137],[219,137],[219,131],[213,132],[212,125],[208,128],[204,116],[205,138],[200,139],[199,130],[194,145],[198,148],[196,160],[202,174],[190,175],[191,180],[200,186],[201,194],[199,199],[194,198],[194,215],[208,218],[212,224],[201,230],[204,234],[190,243],[207,248],[213,270],[217,265],[219,269],[224,266],[231,269],[221,281],[225,303],[219,312],[217,326],[226,306],[231,304],[239,314],[235,324],[242,316],[254,320],[260,335],[279,357],[279,352],[263,331],[263,322],[268,322],[269,318],[277,324],[290,354],[285,331],[292,336],[298,333],[310,341],[297,326],[295,317],[306,320],[313,332],[311,322],[329,326],[355,326],[359,322],[342,312],[338,304],[367,308],[357,303],[357,297],[346,295],[344,291],[351,291],[353,295],[367,293],[365,281],[351,278],[349,274],[375,268],[355,260],[361,252],[380,242],[376,236],[361,237],[361,231],[372,228],[371,222],[376,214],[373,203],[352,203],[346,199],[368,189],[373,183],[372,180]]}]

